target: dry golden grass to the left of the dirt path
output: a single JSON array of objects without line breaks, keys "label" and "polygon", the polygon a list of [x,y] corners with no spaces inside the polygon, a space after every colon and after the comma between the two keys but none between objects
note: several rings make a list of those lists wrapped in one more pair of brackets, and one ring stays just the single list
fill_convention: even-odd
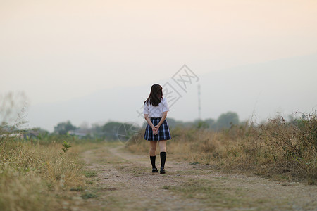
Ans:
[{"label": "dry golden grass to the left of the dirt path", "polygon": [[0,146],[0,210],[61,210],[70,188],[85,185],[83,163],[72,147],[6,141]]}]

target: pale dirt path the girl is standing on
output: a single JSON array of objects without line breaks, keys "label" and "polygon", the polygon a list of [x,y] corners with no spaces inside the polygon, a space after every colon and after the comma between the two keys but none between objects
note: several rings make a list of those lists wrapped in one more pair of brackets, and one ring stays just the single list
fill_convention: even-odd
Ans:
[{"label": "pale dirt path the girl is standing on", "polygon": [[[222,174],[201,165],[166,161],[166,174],[151,173],[147,155],[123,146],[82,154],[92,177],[83,210],[317,210],[317,187],[260,177]],[[159,156],[156,165],[159,166]]]}]

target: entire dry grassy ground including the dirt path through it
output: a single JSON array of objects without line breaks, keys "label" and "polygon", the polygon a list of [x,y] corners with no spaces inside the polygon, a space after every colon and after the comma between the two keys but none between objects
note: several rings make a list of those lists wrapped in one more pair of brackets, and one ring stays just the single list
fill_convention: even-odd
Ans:
[{"label": "entire dry grassy ground including the dirt path through it", "polygon": [[0,210],[315,210],[316,125],[311,114],[218,132],[176,128],[166,174],[151,173],[142,136],[130,146],[3,139]]}]

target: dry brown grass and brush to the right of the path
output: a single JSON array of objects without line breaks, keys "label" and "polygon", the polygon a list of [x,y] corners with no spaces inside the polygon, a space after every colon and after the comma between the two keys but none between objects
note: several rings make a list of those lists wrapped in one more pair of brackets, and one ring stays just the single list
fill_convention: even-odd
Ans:
[{"label": "dry brown grass and brush to the right of the path", "polygon": [[[171,133],[168,154],[173,159],[230,172],[251,172],[278,180],[316,184],[316,114],[293,122],[276,117],[258,126],[237,125],[221,132],[176,128]],[[141,136],[138,144],[129,146],[129,150],[147,153],[149,143]]]}]

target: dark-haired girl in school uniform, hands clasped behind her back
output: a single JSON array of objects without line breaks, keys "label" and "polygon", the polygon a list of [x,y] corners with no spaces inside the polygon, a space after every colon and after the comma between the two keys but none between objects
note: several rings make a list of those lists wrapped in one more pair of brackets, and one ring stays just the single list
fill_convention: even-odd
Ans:
[{"label": "dark-haired girl in school uniform, hands clasped behind her back", "polygon": [[155,166],[156,159],[156,143],[159,141],[160,157],[161,157],[161,174],[165,174],[166,161],[166,140],[171,139],[170,129],[166,122],[168,113],[168,103],[163,98],[162,87],[154,84],[146,101],[144,101],[144,118],[147,120],[147,128],[145,129],[144,139],[150,141],[150,160],[152,164],[152,172],[158,172]]}]

